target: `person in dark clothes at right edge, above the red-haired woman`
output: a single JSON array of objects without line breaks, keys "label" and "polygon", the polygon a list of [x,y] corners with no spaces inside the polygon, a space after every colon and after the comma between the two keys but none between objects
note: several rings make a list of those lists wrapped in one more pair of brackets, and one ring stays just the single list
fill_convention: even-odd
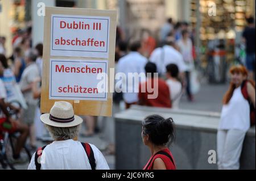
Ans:
[{"label": "person in dark clothes at right edge, above the red-haired woman", "polygon": [[243,41],[246,43],[246,68],[249,70],[249,79],[255,81],[255,24],[254,18],[247,19],[248,26],[243,31]]}]

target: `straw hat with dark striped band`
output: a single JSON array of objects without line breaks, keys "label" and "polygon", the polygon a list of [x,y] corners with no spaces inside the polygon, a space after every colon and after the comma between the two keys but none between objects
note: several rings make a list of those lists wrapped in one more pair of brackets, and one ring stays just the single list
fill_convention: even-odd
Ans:
[{"label": "straw hat with dark striped band", "polygon": [[71,103],[65,101],[55,102],[50,113],[44,113],[40,119],[52,127],[75,127],[82,123],[81,117],[74,115]]}]

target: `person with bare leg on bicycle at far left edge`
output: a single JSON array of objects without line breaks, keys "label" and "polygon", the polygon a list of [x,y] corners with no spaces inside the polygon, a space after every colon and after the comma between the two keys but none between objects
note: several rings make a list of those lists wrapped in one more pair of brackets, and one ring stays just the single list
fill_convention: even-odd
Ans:
[{"label": "person with bare leg on bicycle at far left edge", "polygon": [[[3,76],[3,65],[0,61],[0,77]],[[15,133],[19,132],[20,135],[16,142],[13,158],[11,158],[12,163],[24,163],[25,158],[20,157],[20,150],[22,150],[28,136],[28,127],[26,125],[20,124],[11,118],[7,107],[18,111],[15,107],[7,104],[5,99],[7,98],[7,93],[3,81],[0,79],[0,134],[1,132]]]}]

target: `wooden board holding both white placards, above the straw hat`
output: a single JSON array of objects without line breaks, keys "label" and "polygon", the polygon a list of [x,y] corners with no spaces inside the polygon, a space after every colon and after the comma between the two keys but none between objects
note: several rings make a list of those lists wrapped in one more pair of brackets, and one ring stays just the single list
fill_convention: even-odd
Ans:
[{"label": "wooden board holding both white placards, above the straw hat", "polygon": [[116,27],[114,10],[46,7],[42,113],[65,100],[77,115],[112,116]]}]

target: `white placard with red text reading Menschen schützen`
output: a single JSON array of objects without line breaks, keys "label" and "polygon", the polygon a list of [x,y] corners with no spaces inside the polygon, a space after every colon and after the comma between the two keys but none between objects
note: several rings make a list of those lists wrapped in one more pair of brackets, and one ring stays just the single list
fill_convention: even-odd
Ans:
[{"label": "white placard with red text reading Menschen sch\u00fctzen", "polygon": [[51,59],[49,70],[49,99],[108,99],[107,60]]}]

